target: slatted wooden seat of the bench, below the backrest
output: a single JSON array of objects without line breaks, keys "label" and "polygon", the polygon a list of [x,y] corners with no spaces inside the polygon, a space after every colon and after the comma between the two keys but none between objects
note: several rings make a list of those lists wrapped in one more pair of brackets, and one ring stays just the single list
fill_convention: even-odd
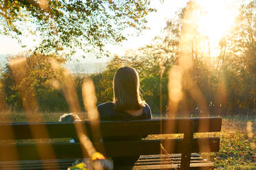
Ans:
[{"label": "slatted wooden seat of the bench, below the backrest", "polygon": [[[160,154],[140,156],[139,160],[135,163],[133,170],[148,170],[148,169],[180,169],[181,154]],[[57,160],[58,167],[56,167],[56,160],[44,160],[44,166],[50,170],[67,170],[74,159]],[[191,154],[191,169],[213,169],[213,163],[208,162],[199,154]],[[41,160],[20,160],[20,161],[1,161],[0,169],[5,170],[39,170],[43,169]],[[129,167],[116,168],[120,170],[129,169]]]}]

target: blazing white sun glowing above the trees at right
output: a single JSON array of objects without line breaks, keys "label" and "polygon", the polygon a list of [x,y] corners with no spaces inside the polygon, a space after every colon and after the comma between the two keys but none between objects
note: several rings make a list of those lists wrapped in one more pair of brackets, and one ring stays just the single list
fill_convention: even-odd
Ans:
[{"label": "blazing white sun glowing above the trees at right", "polygon": [[237,8],[232,0],[198,1],[202,7],[199,31],[209,39],[211,56],[220,54],[219,42],[235,23]]}]

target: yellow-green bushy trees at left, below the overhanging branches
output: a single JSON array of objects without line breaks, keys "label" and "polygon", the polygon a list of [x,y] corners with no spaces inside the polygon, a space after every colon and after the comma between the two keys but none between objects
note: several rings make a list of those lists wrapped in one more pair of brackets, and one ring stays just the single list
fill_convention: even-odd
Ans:
[{"label": "yellow-green bushy trees at left, below the overhanging branches", "polygon": [[[12,59],[10,58],[10,60]],[[25,60],[28,68],[23,68],[28,75],[21,82],[15,82],[13,71],[10,69],[10,65],[6,64],[2,74],[2,83],[4,84],[6,103],[11,110],[23,110],[19,90],[24,88],[24,90],[32,89],[34,93],[30,95],[36,96],[39,110],[43,112],[65,112],[68,110],[62,91],[52,88],[54,80],[61,80],[61,71],[54,70],[49,59],[50,56],[28,56]],[[56,58],[56,60],[63,62],[63,59],[60,58]]]}]

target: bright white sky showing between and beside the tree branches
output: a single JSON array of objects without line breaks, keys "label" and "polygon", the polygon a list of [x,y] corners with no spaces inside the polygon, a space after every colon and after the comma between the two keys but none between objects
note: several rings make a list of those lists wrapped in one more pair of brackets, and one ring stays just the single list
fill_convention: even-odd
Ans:
[{"label": "bright white sky showing between and beside the tree branches", "polygon": [[[151,40],[160,34],[161,29],[164,28],[165,22],[167,19],[172,18],[175,15],[175,12],[180,10],[186,5],[186,2],[188,0],[165,0],[163,3],[161,3],[159,0],[152,0],[151,1],[151,7],[156,8],[157,12],[152,12],[147,16],[147,26],[149,29],[146,29],[142,31],[142,33],[139,36],[129,36],[127,37],[127,40],[122,42],[120,45],[106,45],[106,49],[111,51],[113,54],[122,55],[125,53],[125,51],[129,49],[137,49],[138,47],[142,47],[144,45],[150,44]],[[202,6],[205,9],[208,9],[209,16],[205,19],[202,23],[206,23],[202,26],[202,29],[206,32],[206,34],[209,34],[211,46],[214,47],[214,44],[218,43],[220,37],[222,34],[224,34],[224,31],[228,29],[228,27],[231,25],[232,18],[231,15],[234,15],[232,12],[226,12],[227,10],[232,9],[225,9],[221,8],[222,6],[226,7],[228,4],[232,4],[234,2],[237,2],[239,0],[198,0]],[[211,11],[212,10],[212,11]],[[213,11],[214,10],[214,11]],[[216,12],[217,11],[217,12]],[[214,15],[213,15],[214,14]],[[228,18],[229,17],[229,18]],[[234,17],[233,17],[234,18]],[[221,27],[215,27],[216,21],[221,22],[220,24],[225,25],[225,30]],[[229,23],[228,23],[229,22]],[[214,25],[215,24],[215,25]],[[206,25],[206,27],[205,27]],[[127,29],[126,32],[129,32],[130,30]],[[214,33],[213,33],[214,32]],[[29,36],[22,38],[23,44],[27,45],[25,49],[30,49],[33,47],[33,45],[36,43],[34,41],[36,39],[35,36]],[[215,39],[215,40],[214,40]],[[19,53],[22,53],[25,49],[19,45],[17,40],[12,39],[8,36],[0,36],[0,54],[9,54],[9,55],[17,55]],[[216,41],[216,42],[214,42]],[[211,49],[211,51],[214,51]],[[215,55],[213,53],[213,55]],[[107,62],[110,60],[110,58],[102,57],[99,59],[96,59],[95,57],[87,57],[82,58],[83,52],[77,51],[76,56],[72,57],[72,60],[70,62]],[[0,56],[1,57],[1,56]]]}]

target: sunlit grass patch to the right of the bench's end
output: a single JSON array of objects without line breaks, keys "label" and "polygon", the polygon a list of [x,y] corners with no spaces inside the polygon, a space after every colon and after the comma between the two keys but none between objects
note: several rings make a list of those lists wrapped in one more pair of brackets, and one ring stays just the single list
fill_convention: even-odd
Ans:
[{"label": "sunlit grass patch to the right of the bench's end", "polygon": [[[246,130],[250,127],[248,121],[253,123],[252,132]],[[256,169],[255,119],[248,121],[223,120],[222,132],[217,134],[220,151],[209,155],[216,169]]]}]

